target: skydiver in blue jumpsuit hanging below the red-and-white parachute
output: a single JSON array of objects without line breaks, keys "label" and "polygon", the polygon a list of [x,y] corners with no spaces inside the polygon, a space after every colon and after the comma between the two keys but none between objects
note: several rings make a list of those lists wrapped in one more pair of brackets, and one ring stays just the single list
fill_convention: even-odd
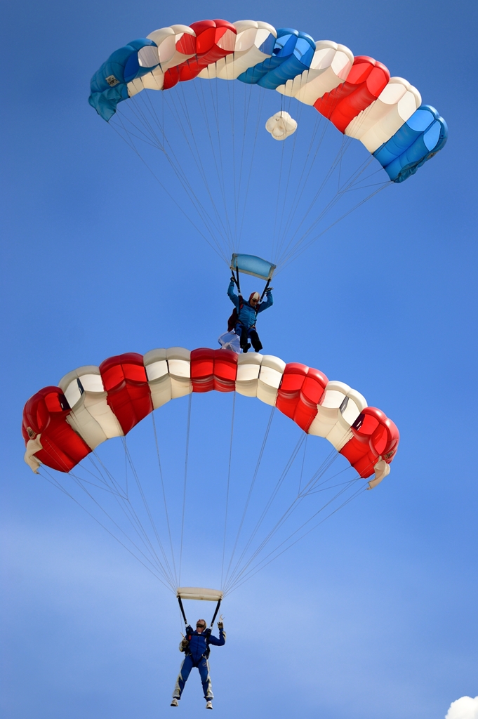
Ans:
[{"label": "skydiver in blue jumpsuit hanging below the red-and-white parachute", "polygon": [[177,707],[178,702],[183,693],[184,685],[188,681],[191,669],[197,667],[203,683],[204,698],[206,699],[206,709],[212,709],[212,700],[214,698],[211,687],[211,677],[209,676],[208,656],[209,645],[224,646],[226,644],[226,632],[222,621],[217,623],[219,628],[219,639],[211,634],[211,629],[206,629],[206,620],[198,619],[196,622],[196,631],[188,624],[186,627],[186,636],[181,640],[179,651],[185,653],[183,664],[179,670],[178,679],[173,692],[172,707]]}]

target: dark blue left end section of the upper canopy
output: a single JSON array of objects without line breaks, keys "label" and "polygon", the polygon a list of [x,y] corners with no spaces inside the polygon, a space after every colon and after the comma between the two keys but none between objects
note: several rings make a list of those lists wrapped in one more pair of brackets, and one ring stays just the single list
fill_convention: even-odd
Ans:
[{"label": "dark blue left end section of the upper canopy", "polygon": [[156,47],[155,42],[146,38],[132,40],[128,45],[120,47],[91,78],[88,102],[106,121],[116,112],[117,104],[128,99],[127,83],[152,70],[142,68],[138,62],[138,51],[147,45]]}]

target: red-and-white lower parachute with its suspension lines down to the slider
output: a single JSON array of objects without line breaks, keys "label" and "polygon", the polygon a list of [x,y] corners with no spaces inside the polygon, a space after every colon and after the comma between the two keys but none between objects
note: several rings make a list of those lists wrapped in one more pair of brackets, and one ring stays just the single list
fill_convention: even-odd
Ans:
[{"label": "red-and-white lower parachute with its suspension lines down to the slider", "polygon": [[[399,441],[357,390],[307,365],[182,347],[69,372],[27,401],[22,431],[32,470],[169,587],[183,618],[182,600],[216,601],[217,613],[228,592],[381,482]],[[307,449],[313,436],[330,449]]]}]

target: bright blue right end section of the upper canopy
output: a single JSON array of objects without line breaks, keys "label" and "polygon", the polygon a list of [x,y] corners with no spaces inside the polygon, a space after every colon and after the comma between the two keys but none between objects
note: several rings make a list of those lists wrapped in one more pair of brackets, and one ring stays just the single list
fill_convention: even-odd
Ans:
[{"label": "bright blue right end section of the upper canopy", "polygon": [[441,150],[447,137],[443,117],[431,105],[421,105],[373,154],[392,182],[403,182]]}]

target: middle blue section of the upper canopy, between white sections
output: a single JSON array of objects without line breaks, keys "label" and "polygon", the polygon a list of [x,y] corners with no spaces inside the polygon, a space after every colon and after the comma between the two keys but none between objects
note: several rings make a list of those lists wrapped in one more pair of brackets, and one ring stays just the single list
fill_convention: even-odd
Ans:
[{"label": "middle blue section of the upper canopy, between white sections", "polygon": [[272,58],[263,60],[239,75],[243,83],[275,90],[311,66],[316,43],[306,32],[289,27],[277,30]]}]

